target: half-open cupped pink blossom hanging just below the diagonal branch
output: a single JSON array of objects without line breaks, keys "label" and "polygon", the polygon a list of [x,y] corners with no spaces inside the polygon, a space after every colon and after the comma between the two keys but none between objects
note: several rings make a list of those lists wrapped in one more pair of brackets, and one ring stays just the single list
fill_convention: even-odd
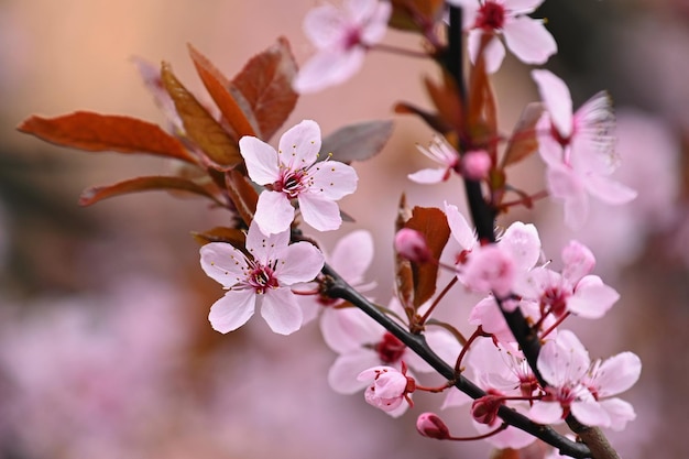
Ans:
[{"label": "half-open cupped pink blossom hanging just below the diagonal branch", "polygon": [[414,380],[392,367],[373,367],[359,373],[357,379],[369,383],[363,395],[370,405],[380,408],[393,417],[401,416],[406,411],[404,401],[409,401],[408,394],[414,391]]}]

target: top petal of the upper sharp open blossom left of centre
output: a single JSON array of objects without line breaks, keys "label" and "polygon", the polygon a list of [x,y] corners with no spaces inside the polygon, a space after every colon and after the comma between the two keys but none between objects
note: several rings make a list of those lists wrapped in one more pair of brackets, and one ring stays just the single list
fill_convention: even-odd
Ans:
[{"label": "top petal of the upper sharp open blossom left of centre", "polygon": [[311,120],[304,120],[289,128],[280,138],[277,147],[280,162],[293,171],[314,164],[319,151],[320,127]]}]

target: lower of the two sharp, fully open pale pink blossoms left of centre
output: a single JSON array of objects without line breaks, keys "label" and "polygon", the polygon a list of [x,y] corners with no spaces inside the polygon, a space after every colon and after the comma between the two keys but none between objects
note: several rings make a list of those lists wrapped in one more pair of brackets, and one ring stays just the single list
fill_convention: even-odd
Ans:
[{"label": "lower of the two sharp, fully open pale pink blossoms left of centre", "polygon": [[244,325],[256,307],[271,329],[289,335],[302,326],[302,309],[289,288],[311,281],[325,263],[322,253],[308,242],[289,243],[288,231],[265,237],[258,225],[247,233],[247,256],[222,242],[200,249],[201,267],[228,291],[210,308],[214,329],[227,334]]}]

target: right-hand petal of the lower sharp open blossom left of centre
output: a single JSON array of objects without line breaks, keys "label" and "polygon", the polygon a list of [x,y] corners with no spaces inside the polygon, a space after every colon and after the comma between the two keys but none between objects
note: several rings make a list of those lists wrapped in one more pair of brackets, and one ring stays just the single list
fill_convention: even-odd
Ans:
[{"label": "right-hand petal of the lower sharp open blossom left of centre", "polygon": [[275,276],[281,285],[313,281],[325,263],[320,250],[309,242],[297,242],[281,252]]}]

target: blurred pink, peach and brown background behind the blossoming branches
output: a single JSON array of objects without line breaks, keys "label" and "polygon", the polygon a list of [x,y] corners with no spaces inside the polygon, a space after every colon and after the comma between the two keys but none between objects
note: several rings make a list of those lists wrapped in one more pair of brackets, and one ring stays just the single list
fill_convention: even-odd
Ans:
[{"label": "blurred pink, peach and brown background behind the blossoming branches", "polygon": [[[187,43],[233,76],[253,54],[286,36],[297,62],[313,48],[302,31],[315,0],[0,0],[0,457],[39,458],[488,458],[482,441],[419,437],[418,407],[392,419],[361,394],[336,394],[326,374],[335,354],[316,323],[289,337],[254,319],[230,335],[207,314],[222,295],[198,263],[189,231],[227,223],[205,203],[164,193],[78,207],[81,189],[165,173],[165,161],[57,149],[15,131],[31,114],[75,110],[164,122],[132,63],[169,62],[208,101]],[[628,206],[594,206],[587,227],[562,229],[561,206],[545,200],[500,221],[537,223],[547,256],[571,238],[598,256],[597,274],[622,299],[601,320],[571,319],[593,358],[624,350],[642,357],[641,381],[622,397],[637,419],[610,438],[627,459],[683,458],[689,359],[689,215],[685,160],[689,128],[687,0],[549,0],[560,51],[547,68],[570,86],[575,106],[608,89],[616,107],[616,177],[639,196]],[[418,48],[416,36],[385,43]],[[512,129],[536,100],[529,68],[511,56],[495,76],[501,125]],[[358,193],[341,201],[356,218],[326,249],[368,229],[374,296],[392,293],[393,221],[402,192],[412,205],[463,206],[452,179],[420,186],[406,174],[431,166],[417,153],[430,131],[392,113],[396,101],[429,107],[418,59],[371,53],[347,84],[299,99],[285,129],[315,119],[324,133],[368,119],[393,119],[385,151],[358,163]],[[543,187],[536,157],[512,178]],[[460,294],[446,318],[463,324],[477,300]],[[450,307],[451,306],[451,307]],[[462,328],[462,325],[459,325]],[[469,330],[469,327],[464,327]],[[442,414],[457,435],[472,435],[467,412]]]}]

